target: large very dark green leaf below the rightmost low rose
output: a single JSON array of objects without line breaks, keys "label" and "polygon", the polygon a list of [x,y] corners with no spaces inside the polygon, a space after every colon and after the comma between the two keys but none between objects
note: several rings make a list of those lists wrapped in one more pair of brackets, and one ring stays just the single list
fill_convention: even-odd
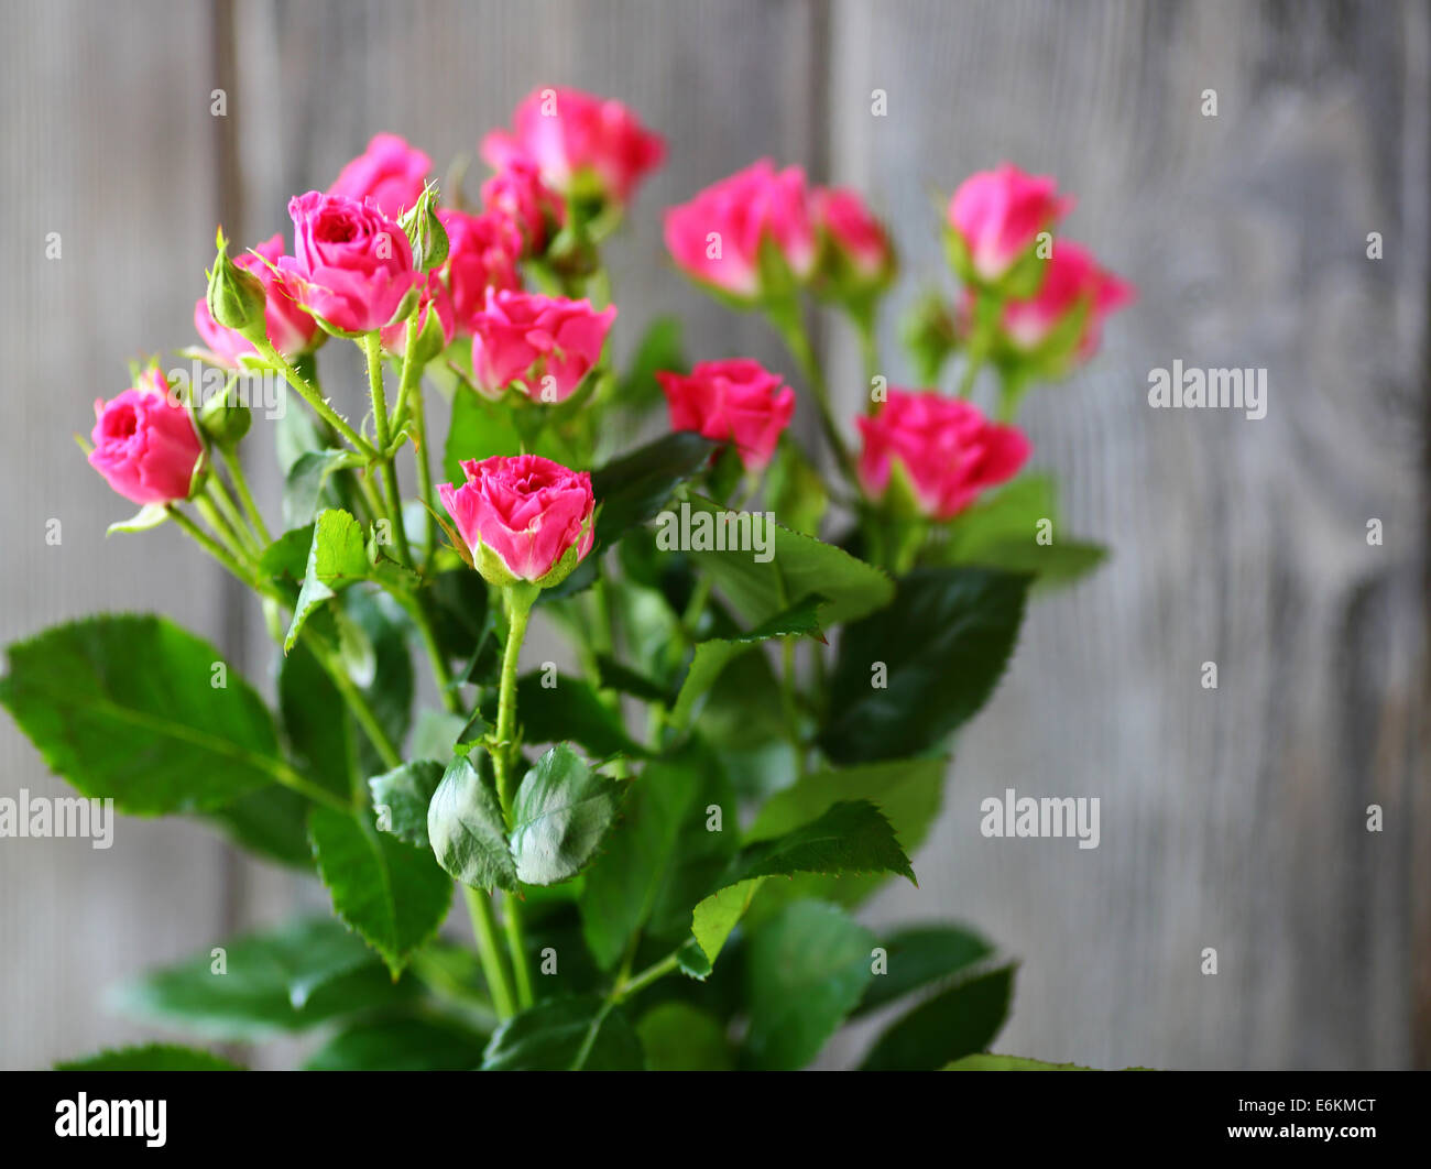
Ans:
[{"label": "large very dark green leaf below the rightmost low rose", "polygon": [[[917,755],[989,700],[1023,620],[1029,578],[920,568],[894,602],[846,628],[820,747],[834,763]],[[880,680],[883,667],[886,685]]]}]

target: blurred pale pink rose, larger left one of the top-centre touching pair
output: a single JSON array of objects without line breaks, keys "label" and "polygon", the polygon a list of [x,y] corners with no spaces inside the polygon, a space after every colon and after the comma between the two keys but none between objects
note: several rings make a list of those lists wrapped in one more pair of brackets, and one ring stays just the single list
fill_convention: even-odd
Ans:
[{"label": "blurred pale pink rose, larger left one of the top-centre touching pair", "polygon": [[816,262],[804,172],[776,172],[770,159],[705,187],[688,203],[665,212],[665,248],[688,276],[741,299],[756,300],[761,286],[760,252],[776,256],[798,279]]}]

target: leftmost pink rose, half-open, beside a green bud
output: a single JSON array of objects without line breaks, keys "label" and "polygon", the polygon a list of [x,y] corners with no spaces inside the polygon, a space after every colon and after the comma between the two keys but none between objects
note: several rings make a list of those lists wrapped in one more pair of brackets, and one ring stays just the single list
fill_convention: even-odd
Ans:
[{"label": "leftmost pink rose, half-open, beside a green bud", "polygon": [[90,439],[90,466],[126,499],[143,507],[189,498],[203,444],[157,369],[117,398],[94,402]]}]

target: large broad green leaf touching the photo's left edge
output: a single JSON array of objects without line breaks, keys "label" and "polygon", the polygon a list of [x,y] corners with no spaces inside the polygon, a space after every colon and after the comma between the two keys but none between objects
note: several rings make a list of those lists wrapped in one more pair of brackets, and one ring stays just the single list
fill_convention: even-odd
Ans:
[{"label": "large broad green leaf touching the photo's left edge", "polygon": [[273,783],[273,720],[223,655],[162,617],[104,615],[9,647],[0,704],[53,771],[133,816],[213,811]]}]

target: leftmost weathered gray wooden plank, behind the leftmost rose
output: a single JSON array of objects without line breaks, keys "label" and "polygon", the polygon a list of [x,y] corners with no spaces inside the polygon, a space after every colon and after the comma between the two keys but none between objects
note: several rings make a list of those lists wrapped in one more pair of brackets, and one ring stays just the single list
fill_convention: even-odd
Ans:
[{"label": "leftmost weathered gray wooden plank, behind the leftmost rose", "polygon": [[[126,358],[192,333],[213,239],[203,11],[46,3],[6,16],[0,638],[97,610],[160,610],[215,637],[218,572],[177,531],[104,539],[135,508],[73,441],[94,399],[129,385]],[[0,794],[21,788],[70,791],[4,717]],[[172,821],[124,818],[109,850],[0,840],[0,1066],[150,1033],[106,1012],[102,992],[225,933],[222,856],[205,828]]]}]

